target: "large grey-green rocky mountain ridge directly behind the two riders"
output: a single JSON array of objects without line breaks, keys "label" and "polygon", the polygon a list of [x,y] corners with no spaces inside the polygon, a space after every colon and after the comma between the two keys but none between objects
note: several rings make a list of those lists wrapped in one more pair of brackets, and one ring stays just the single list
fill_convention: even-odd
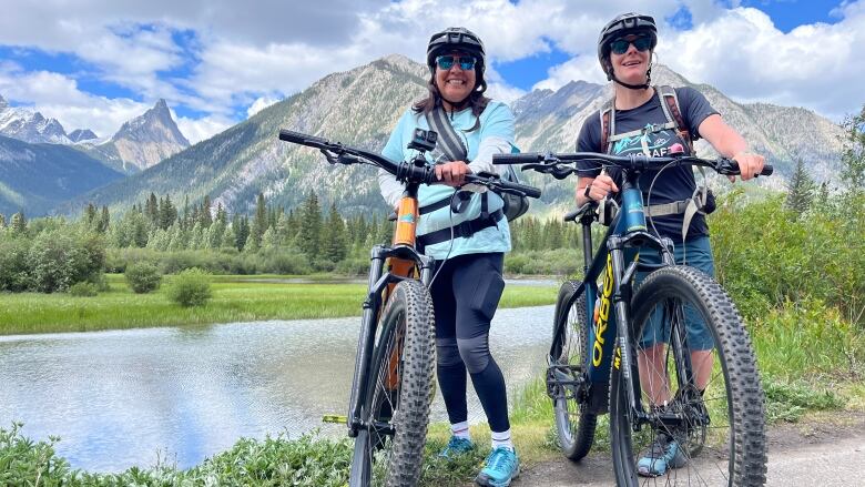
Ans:
[{"label": "large grey-green rocky mountain ridge directly behind the two riders", "polygon": [[[314,190],[323,205],[336,202],[343,211],[384,211],[374,169],[334,168],[316,151],[279,142],[277,133],[284,128],[378,151],[399,115],[427,93],[428,77],[425,65],[401,55],[329,74],[245,122],[142,173],[98,189],[70,206],[80,209],[83,202],[92,201],[126,209],[154,192],[169,194],[177,203],[210,195],[214,205],[247,212],[258,192],[271,203],[295,207]],[[694,85],[662,65],[655,67],[653,78],[673,85]],[[782,184],[796,155],[818,179],[832,173],[839,153],[837,136],[842,131],[837,125],[803,109],[737,103],[712,87],[694,87],[754,150],[777,165],[780,174],[761,179],[763,184]],[[583,120],[609,95],[609,87],[584,81],[526,94],[511,103],[518,145],[523,152],[572,151]],[[698,151],[710,154],[704,142]],[[547,204],[568,204],[572,199],[572,181],[535,173],[527,179],[545,189]]]}]

